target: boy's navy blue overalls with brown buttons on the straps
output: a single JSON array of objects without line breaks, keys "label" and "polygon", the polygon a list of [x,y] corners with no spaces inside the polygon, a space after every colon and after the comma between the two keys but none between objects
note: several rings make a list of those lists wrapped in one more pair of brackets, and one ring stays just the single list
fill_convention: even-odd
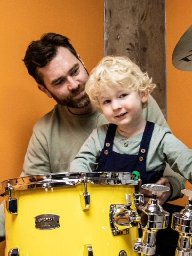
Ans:
[{"label": "boy's navy blue overalls with brown buttons on the straps", "polygon": [[110,124],[105,137],[104,148],[101,151],[97,171],[99,172],[133,172],[138,171],[142,184],[154,183],[163,176],[163,171],[146,172],[146,157],[152,137],[154,123],[147,121],[143,132],[138,155],[120,154],[113,151],[113,140],[117,125]]}]

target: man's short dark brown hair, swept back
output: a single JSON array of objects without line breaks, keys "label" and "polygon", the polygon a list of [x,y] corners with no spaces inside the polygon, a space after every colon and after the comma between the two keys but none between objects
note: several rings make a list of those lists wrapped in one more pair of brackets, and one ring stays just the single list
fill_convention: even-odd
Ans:
[{"label": "man's short dark brown hair, swept back", "polygon": [[66,36],[55,33],[46,33],[41,36],[40,40],[32,41],[25,53],[23,59],[25,66],[37,84],[41,84],[46,88],[38,68],[45,67],[57,54],[59,46],[67,48],[77,59],[79,59],[75,49],[69,43]]}]

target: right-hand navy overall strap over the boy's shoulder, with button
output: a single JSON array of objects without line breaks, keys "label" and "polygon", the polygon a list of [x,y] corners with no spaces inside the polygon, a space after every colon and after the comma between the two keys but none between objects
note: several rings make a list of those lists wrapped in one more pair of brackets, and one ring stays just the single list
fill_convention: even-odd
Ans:
[{"label": "right-hand navy overall strap over the boy's shoulder, with button", "polygon": [[140,149],[139,149],[139,156],[147,156],[149,144],[151,141],[152,133],[154,130],[154,123],[147,121],[145,130],[143,132]]}]

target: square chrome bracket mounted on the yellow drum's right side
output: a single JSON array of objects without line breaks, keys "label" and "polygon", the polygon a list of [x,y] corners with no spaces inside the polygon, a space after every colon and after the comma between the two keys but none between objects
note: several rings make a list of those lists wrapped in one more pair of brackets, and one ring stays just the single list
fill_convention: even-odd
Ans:
[{"label": "square chrome bracket mounted on the yellow drum's right side", "polygon": [[129,233],[129,228],[137,226],[140,217],[130,206],[131,195],[125,195],[125,204],[111,204],[109,211],[110,226],[113,236]]}]

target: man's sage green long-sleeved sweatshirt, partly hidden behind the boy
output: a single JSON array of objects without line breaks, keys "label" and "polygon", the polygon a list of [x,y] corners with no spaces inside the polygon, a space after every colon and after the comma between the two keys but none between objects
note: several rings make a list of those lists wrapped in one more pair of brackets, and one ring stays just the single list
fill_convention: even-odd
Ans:
[{"label": "man's sage green long-sleeved sweatshirt, partly hidden behind the boy", "polygon": [[[168,127],[156,101],[150,96],[144,119]],[[70,162],[78,153],[93,129],[108,121],[103,114],[93,111],[87,115],[73,115],[68,108],[56,105],[34,126],[25,156],[21,176],[54,172],[69,172]],[[171,200],[181,197],[185,179],[170,168],[164,176],[169,179],[173,191]],[[5,236],[3,204],[0,205],[0,237]]]}]

